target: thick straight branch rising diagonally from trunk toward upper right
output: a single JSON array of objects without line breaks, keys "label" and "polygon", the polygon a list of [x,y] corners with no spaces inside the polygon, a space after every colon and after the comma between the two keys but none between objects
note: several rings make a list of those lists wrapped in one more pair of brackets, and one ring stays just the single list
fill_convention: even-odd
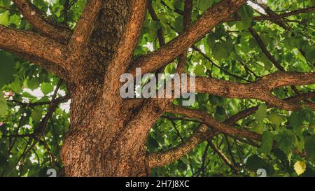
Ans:
[{"label": "thick straight branch rising diagonally from trunk toward upper right", "polygon": [[186,48],[199,41],[217,24],[230,17],[244,3],[244,0],[223,0],[216,6],[209,8],[195,24],[173,41],[170,41],[156,52],[135,59],[129,73],[135,76],[137,67],[141,67],[143,73],[160,69],[160,67],[181,55],[182,52],[185,52]]}]

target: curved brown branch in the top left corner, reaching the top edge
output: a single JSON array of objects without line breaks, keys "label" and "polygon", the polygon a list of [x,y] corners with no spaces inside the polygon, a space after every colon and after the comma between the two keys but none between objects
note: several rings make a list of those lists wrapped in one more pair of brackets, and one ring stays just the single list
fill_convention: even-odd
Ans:
[{"label": "curved brown branch in the top left corner, reaching the top edge", "polygon": [[45,20],[43,13],[38,10],[29,0],[13,0],[18,6],[23,17],[45,36],[54,38],[59,42],[68,42],[71,31]]}]

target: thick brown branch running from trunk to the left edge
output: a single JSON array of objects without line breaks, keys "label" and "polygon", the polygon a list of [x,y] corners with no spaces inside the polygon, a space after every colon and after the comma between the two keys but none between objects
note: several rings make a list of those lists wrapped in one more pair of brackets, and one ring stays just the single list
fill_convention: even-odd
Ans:
[{"label": "thick brown branch running from trunk to the left edge", "polygon": [[67,69],[64,62],[66,48],[50,38],[30,31],[18,31],[0,25],[0,48],[34,61],[34,64],[65,77],[64,69]]}]

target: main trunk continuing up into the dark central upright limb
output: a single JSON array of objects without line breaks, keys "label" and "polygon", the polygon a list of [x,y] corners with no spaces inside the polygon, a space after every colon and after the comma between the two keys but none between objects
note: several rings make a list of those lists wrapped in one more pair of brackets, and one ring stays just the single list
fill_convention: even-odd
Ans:
[{"label": "main trunk continuing up into the dark central upright limb", "polygon": [[[111,63],[116,59],[115,52],[130,16],[129,4],[129,1],[104,2],[92,34],[89,56],[73,63],[86,67],[84,73],[76,74],[78,83],[69,85],[71,128],[62,148],[66,176],[148,175],[146,141],[139,142],[137,134],[127,132],[132,113],[123,112],[117,88],[120,84],[116,80],[119,76],[111,72],[115,71]],[[106,85],[99,78],[104,72],[110,82]]]}]

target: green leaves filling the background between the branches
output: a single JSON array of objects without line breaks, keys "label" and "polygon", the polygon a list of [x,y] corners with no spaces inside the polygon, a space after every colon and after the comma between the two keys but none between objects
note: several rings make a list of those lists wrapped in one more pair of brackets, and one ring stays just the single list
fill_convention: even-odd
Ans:
[{"label": "green leaves filling the background between the branches", "polygon": [[[75,1],[68,10],[64,22],[62,0],[34,0],[34,5],[47,13],[52,22],[73,28],[84,8],[85,1]],[[157,50],[158,29],[163,29],[166,42],[172,41],[183,31],[183,0],[154,0],[153,8],[160,22],[146,16],[136,55]],[[193,22],[217,0],[193,1]],[[267,1],[276,13],[314,6],[314,1]],[[259,14],[251,6],[238,11],[241,21],[219,24],[207,36],[195,44],[213,62],[200,52],[190,49],[186,71],[196,76],[211,76],[222,80],[248,83],[277,71],[262,53],[248,27],[253,27],[267,46],[267,50],[281,63],[286,71],[314,71],[314,13],[302,13],[286,17],[290,29],[266,21],[256,21]],[[8,0],[0,0],[0,24],[16,29],[31,29],[20,15],[18,8]],[[169,64],[166,73],[174,73],[177,61]],[[233,75],[231,75],[231,73]],[[36,133],[47,113],[52,94],[59,78],[45,69],[38,68],[16,55],[0,50],[0,176],[46,176],[48,168],[62,169],[60,148],[69,128],[69,103],[61,104],[45,127],[45,138],[29,150]],[[314,91],[314,85],[296,87],[299,92]],[[57,97],[67,94],[62,85]],[[292,87],[274,90],[281,99],[295,95]],[[181,104],[182,99],[174,101]],[[309,100],[315,101],[315,99]],[[25,104],[27,103],[27,104]],[[218,120],[235,115],[245,108],[258,106],[258,111],[239,120],[237,128],[262,134],[262,143],[219,134],[211,141],[232,163],[238,167],[235,174],[229,165],[209,148],[207,141],[201,143],[189,155],[167,167],[152,170],[152,176],[256,176],[258,169],[266,169],[267,176],[315,176],[315,115],[309,108],[288,112],[269,108],[254,99],[227,99],[209,94],[197,94],[192,108],[206,111]],[[178,146],[193,134],[200,123],[181,115],[165,113],[156,122],[148,136],[148,152],[155,153]],[[26,136],[18,136],[26,135]],[[276,143],[275,143],[276,141]],[[297,152],[295,152],[297,150]],[[302,155],[301,155],[302,153]],[[25,155],[26,154],[26,155]]]}]

